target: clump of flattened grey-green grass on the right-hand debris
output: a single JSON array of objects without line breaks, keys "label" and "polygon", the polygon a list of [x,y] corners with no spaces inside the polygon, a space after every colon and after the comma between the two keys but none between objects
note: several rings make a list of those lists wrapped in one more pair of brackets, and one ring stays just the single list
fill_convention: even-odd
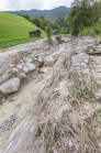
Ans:
[{"label": "clump of flattened grey-green grass on the right-hand debris", "polygon": [[94,91],[98,88],[98,83],[94,76],[96,69],[89,63],[89,74],[83,75],[81,72],[75,72],[72,75],[74,86],[72,96],[82,101],[94,99]]}]

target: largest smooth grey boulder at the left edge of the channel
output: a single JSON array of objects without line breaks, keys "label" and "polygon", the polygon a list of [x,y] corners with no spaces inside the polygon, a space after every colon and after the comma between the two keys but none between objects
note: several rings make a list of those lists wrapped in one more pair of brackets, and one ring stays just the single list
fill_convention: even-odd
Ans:
[{"label": "largest smooth grey boulder at the left edge of the channel", "polygon": [[10,80],[5,81],[0,86],[0,91],[2,94],[11,94],[18,91],[19,87],[20,87],[20,79],[11,78]]}]

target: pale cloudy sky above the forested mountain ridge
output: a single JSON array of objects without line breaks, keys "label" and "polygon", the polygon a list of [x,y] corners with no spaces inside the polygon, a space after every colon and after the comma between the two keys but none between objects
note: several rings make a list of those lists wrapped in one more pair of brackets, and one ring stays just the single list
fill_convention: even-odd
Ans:
[{"label": "pale cloudy sky above the forested mountain ridge", "polygon": [[59,6],[70,7],[74,0],[0,0],[0,11],[49,10]]}]

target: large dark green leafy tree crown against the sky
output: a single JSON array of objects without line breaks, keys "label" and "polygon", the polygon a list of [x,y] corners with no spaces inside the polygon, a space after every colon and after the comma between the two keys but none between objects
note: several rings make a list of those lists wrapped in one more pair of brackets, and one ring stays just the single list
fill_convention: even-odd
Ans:
[{"label": "large dark green leafy tree crown against the sky", "polygon": [[91,26],[99,19],[97,0],[75,0],[67,18],[67,28],[71,34],[77,35],[85,26]]}]

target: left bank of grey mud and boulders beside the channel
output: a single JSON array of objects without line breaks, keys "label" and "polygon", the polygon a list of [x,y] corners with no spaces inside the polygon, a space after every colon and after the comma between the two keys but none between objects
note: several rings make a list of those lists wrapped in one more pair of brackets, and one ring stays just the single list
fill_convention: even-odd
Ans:
[{"label": "left bank of grey mud and boulders beside the channel", "polygon": [[58,48],[58,42],[55,37],[53,40],[53,46],[49,46],[46,40],[40,40],[0,53],[1,94],[18,91],[22,83],[38,74],[44,65],[44,58]]}]

